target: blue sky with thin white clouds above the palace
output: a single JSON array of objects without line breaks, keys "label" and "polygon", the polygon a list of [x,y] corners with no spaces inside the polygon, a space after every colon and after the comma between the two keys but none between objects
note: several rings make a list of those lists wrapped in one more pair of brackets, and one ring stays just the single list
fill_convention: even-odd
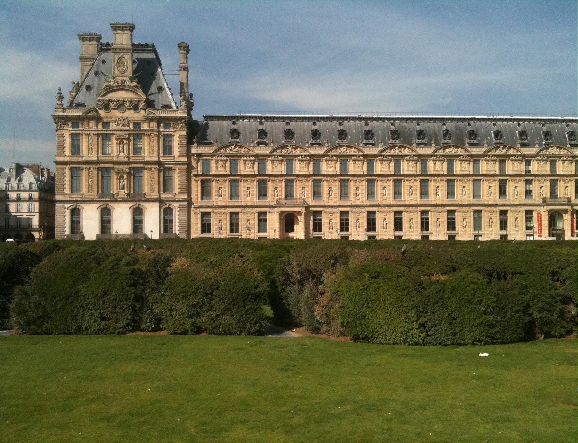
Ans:
[{"label": "blue sky with thin white clouds above the palace", "polygon": [[[195,118],[243,111],[576,114],[576,1],[0,0],[0,164],[54,158],[54,95],[77,33],[133,21],[177,69]],[[177,76],[167,76],[177,90]]]}]

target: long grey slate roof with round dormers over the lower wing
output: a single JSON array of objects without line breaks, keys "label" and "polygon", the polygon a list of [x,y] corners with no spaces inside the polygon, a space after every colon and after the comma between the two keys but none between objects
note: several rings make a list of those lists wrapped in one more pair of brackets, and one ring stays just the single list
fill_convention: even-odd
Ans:
[{"label": "long grey slate roof with round dormers over the lower wing", "polygon": [[[305,146],[307,140],[312,141],[312,129],[321,131],[318,140],[325,146],[334,146],[338,143],[351,143],[355,145],[368,142],[365,140],[364,131],[369,129],[373,133],[373,144],[383,146],[388,144],[407,144],[412,146],[442,146],[443,144],[457,144],[476,146],[474,140],[468,140],[468,131],[473,130],[477,134],[475,142],[483,147],[494,144],[509,144],[522,147],[539,147],[558,144],[576,146],[576,139],[572,138],[572,132],[576,135],[576,118],[552,118],[552,117],[420,117],[420,116],[266,116],[266,115],[236,115],[236,116],[203,116],[203,121],[198,121],[195,134],[197,144],[228,143],[231,140],[231,129],[236,128],[240,132],[238,139],[234,141],[240,144],[257,144],[257,130],[265,129],[266,146],[277,146],[286,141],[285,130],[291,129],[294,136],[291,143]],[[235,122],[235,124],[233,123]],[[345,140],[339,139],[338,130],[347,132]],[[399,133],[397,140],[390,138],[390,131],[395,129]],[[425,131],[425,139],[417,140],[416,131]],[[449,140],[444,140],[442,132],[448,130],[451,133]],[[501,131],[502,139],[494,138],[494,131]],[[525,131],[527,141],[520,140],[519,131]],[[550,131],[551,139],[544,139],[544,132]],[[570,135],[568,135],[570,132]],[[420,143],[421,142],[421,143]],[[367,145],[366,145],[367,146]],[[371,143],[369,143],[371,146]]]}]

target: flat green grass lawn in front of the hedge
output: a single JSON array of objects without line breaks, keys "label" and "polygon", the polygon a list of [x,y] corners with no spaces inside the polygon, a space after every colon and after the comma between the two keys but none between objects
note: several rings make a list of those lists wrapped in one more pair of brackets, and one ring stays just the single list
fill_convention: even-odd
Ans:
[{"label": "flat green grass lawn in front of the hedge", "polygon": [[9,336],[0,355],[6,443],[576,441],[575,339]]}]

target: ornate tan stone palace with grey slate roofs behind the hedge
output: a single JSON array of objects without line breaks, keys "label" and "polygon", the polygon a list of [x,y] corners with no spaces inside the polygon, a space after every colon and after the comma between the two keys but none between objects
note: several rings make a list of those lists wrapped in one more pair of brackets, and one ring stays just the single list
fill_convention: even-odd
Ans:
[{"label": "ornate tan stone palace with grey slate roofs behind the hedge", "polygon": [[79,34],[57,94],[57,237],[576,238],[576,118],[191,118],[153,44]]}]

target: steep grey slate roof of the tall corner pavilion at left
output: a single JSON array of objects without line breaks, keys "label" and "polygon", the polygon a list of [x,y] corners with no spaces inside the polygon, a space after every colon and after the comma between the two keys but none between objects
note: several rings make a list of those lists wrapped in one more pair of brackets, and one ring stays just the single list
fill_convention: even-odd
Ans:
[{"label": "steep grey slate roof of the tall corner pavilion at left", "polygon": [[[113,54],[110,52],[111,43],[101,43],[97,58],[82,83],[79,92],[72,102],[73,107],[97,106],[97,94],[102,90],[105,75],[112,75]],[[161,107],[176,109],[175,100],[171,95],[161,68],[161,59],[158,57],[154,44],[132,43],[133,72],[140,88],[147,96],[147,107],[160,109]],[[159,89],[160,88],[160,89]]]}]

